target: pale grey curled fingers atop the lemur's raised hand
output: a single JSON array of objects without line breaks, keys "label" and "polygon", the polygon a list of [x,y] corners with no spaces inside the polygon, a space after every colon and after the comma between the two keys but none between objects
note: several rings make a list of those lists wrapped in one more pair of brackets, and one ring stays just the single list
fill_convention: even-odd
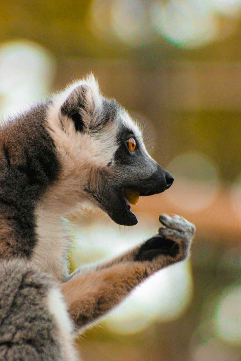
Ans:
[{"label": "pale grey curled fingers atop the lemur's raised hand", "polygon": [[[168,228],[180,231],[180,232],[189,232],[190,235],[194,235],[195,233],[195,226],[188,222],[185,218],[181,216],[173,216],[170,217],[167,214],[162,214],[159,216],[159,221]],[[162,232],[163,227],[161,227],[159,230],[159,234],[163,234]]]}]

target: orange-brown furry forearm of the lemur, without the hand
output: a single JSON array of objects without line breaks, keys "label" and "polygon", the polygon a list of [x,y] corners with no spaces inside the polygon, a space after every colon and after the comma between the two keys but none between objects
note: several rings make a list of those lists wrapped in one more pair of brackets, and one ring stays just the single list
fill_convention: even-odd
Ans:
[{"label": "orange-brown furry forearm of the lemur, without the hand", "polygon": [[98,272],[76,274],[61,286],[69,314],[84,327],[119,304],[147,276],[140,262],[125,262]]}]

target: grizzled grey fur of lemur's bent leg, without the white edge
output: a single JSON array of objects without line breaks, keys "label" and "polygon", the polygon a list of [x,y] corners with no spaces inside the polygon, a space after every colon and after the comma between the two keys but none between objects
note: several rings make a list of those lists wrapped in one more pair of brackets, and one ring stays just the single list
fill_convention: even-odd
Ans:
[{"label": "grizzled grey fur of lemur's bent leg, without the white edge", "polygon": [[50,278],[17,259],[0,265],[0,360],[64,361],[47,305]]}]

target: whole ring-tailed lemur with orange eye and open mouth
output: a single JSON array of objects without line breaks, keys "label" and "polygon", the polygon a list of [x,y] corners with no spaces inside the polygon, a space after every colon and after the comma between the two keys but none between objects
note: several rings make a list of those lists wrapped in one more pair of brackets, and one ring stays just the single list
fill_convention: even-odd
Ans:
[{"label": "whole ring-tailed lemur with orange eye and open mouth", "polygon": [[0,140],[0,360],[76,360],[74,331],[184,260],[195,228],[160,216],[158,235],[68,274],[66,214],[87,204],[119,225],[135,225],[126,189],[148,196],[173,182],[148,155],[129,114],[100,95],[92,76],[9,119]]}]

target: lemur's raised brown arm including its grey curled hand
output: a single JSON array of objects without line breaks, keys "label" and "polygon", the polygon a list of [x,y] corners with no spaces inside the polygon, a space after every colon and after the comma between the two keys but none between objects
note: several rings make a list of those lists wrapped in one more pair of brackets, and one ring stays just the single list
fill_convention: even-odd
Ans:
[{"label": "lemur's raised brown arm including its grey curled hand", "polygon": [[[166,227],[142,245],[103,265],[77,271],[61,289],[77,328],[85,327],[119,304],[156,271],[184,260],[195,228],[181,217],[163,218]],[[168,236],[168,238],[166,238]]]}]

